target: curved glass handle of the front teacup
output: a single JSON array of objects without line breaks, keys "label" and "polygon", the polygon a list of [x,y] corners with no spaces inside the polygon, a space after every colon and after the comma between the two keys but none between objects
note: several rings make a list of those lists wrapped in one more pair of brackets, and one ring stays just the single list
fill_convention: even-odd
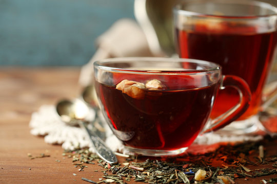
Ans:
[{"label": "curved glass handle of the front teacup", "polygon": [[211,120],[211,124],[203,131],[203,133],[215,131],[230,124],[238,119],[249,107],[251,101],[251,92],[248,84],[240,77],[233,75],[224,75],[220,84],[220,90],[226,87],[233,87],[238,90],[240,101],[219,117]]}]

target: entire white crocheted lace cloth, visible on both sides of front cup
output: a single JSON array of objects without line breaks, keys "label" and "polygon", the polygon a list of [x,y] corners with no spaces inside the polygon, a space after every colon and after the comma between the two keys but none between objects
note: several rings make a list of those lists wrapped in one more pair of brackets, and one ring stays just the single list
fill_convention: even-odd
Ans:
[{"label": "entire white crocheted lace cloth, visible on both sides of front cup", "polygon": [[[93,113],[94,118],[95,111]],[[46,143],[61,144],[65,150],[90,147],[90,151],[94,152],[93,148],[91,148],[89,137],[84,130],[65,124],[58,116],[54,105],[43,105],[37,112],[33,112],[30,127],[31,134],[43,135]],[[105,142],[112,151],[132,154],[124,148],[122,142],[117,139],[107,124],[104,124],[104,128],[106,130]],[[198,136],[187,152],[203,153],[213,151],[221,143],[258,141],[262,138],[262,135],[257,134],[228,135],[225,133],[207,133]]]}]

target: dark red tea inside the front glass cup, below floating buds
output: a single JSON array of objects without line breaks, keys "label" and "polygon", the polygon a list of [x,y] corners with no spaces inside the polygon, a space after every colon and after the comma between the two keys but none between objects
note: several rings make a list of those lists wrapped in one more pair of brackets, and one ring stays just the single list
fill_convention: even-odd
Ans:
[{"label": "dark red tea inside the front glass cup, below floating buds", "polygon": [[113,86],[96,82],[95,88],[110,125],[133,134],[125,145],[175,150],[189,146],[202,130],[217,84],[187,90],[146,90],[140,100]]}]

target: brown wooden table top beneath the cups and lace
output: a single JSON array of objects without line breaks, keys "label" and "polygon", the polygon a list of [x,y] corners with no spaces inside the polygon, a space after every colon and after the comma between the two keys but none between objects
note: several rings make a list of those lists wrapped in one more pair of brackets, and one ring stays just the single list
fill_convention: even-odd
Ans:
[{"label": "brown wooden table top beneath the cups and lace", "polygon": [[[55,104],[61,98],[74,98],[81,93],[79,74],[78,67],[0,69],[0,183],[88,183],[82,177],[94,181],[102,178],[102,172],[95,172],[102,171],[102,167],[95,164],[78,171],[72,158],[63,155],[60,145],[46,144],[43,137],[30,134],[31,114],[41,105]],[[269,143],[268,149],[277,153],[276,144]],[[50,156],[28,156],[41,153]],[[125,162],[123,157],[118,159]],[[260,183],[261,179],[272,177],[277,175],[235,181]]]}]

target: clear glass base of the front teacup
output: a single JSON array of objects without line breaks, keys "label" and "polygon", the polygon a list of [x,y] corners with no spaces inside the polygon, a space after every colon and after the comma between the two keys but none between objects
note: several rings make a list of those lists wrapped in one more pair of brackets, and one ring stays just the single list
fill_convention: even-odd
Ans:
[{"label": "clear glass base of the front teacup", "polygon": [[185,148],[180,148],[176,150],[152,150],[152,149],[133,148],[129,146],[125,146],[125,148],[131,152],[144,155],[144,156],[174,156],[174,155],[182,154],[188,149],[188,147],[185,147]]}]

